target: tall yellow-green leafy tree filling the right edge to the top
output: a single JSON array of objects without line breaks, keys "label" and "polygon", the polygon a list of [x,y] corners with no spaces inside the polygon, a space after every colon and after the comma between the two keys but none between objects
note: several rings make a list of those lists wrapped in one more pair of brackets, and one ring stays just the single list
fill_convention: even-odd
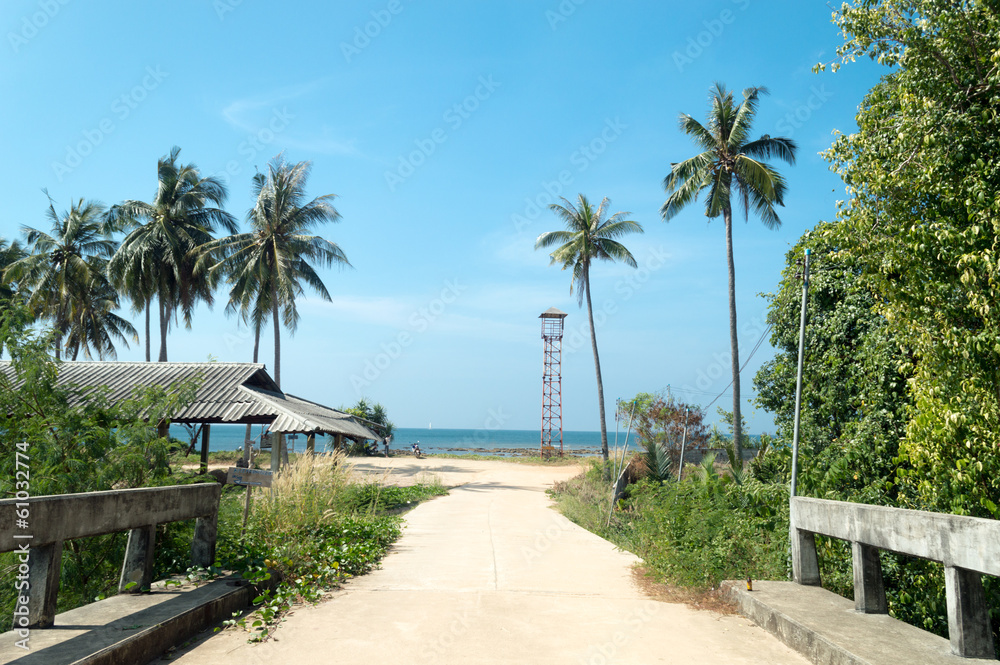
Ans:
[{"label": "tall yellow-green leafy tree filling the right edge to the top", "polygon": [[839,62],[887,69],[826,153],[847,184],[828,242],[904,350],[917,506],[1000,517],[1000,9],[848,2]]}]

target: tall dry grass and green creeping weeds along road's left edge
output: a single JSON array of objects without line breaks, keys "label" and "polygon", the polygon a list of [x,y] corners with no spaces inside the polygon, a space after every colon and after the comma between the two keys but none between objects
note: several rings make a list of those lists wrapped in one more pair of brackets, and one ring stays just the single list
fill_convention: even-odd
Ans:
[{"label": "tall dry grass and green creeping weeds along road's left edge", "polygon": [[346,578],[378,565],[401,532],[401,519],[387,511],[447,492],[440,483],[400,488],[355,478],[342,453],[303,455],[270,490],[254,493],[242,537],[244,491],[226,493],[221,567],[272,588],[253,600],[259,605],[253,613],[225,625],[245,628],[253,642],[266,640],[294,604],[316,602]]}]

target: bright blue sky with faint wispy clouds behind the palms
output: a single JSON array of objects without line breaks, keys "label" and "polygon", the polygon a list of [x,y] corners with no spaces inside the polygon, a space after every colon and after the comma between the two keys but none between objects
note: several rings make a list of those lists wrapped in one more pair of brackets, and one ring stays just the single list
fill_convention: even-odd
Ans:
[{"label": "bright blue sky with faint wispy clouds behind the palms", "polygon": [[[404,427],[537,428],[537,317],[555,306],[564,427],[597,429],[586,312],[533,249],[558,228],[553,196],[580,193],[645,228],[626,243],[638,270],[592,275],[608,413],[668,385],[707,404],[729,382],[725,240],[700,204],[660,218],[670,163],[694,154],[678,114],[703,118],[714,81],[765,85],[757,133],[799,144],[781,229],[735,225],[745,359],[785,252],[844,198],[818,153],[880,74],[812,74],[842,39],[828,5],[803,0],[12,0],[0,28],[0,235],[47,229],[43,188],[58,210],[150,200],[174,145],[228,181],[241,221],[256,169],[310,160],[310,196],[337,194],[342,215],[322,234],[354,267],[323,273],[332,302],[301,299],[282,386],[333,406],[364,395]],[[225,298],[171,332],[170,360],[251,359]],[[273,366],[269,335],[261,354]],[[772,355],[744,372],[751,432],[773,430],[750,402]],[[141,343],[119,358],[141,360]]]}]

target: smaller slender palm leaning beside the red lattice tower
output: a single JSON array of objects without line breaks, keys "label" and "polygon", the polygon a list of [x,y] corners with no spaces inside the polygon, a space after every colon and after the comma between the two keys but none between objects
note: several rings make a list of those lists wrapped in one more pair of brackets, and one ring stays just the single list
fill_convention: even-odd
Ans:
[{"label": "smaller slender palm leaning beside the red lattice tower", "polygon": [[594,351],[594,367],[597,370],[597,406],[601,419],[601,454],[604,456],[604,475],[610,479],[608,464],[608,427],[604,418],[604,382],[601,379],[601,359],[597,354],[597,332],[594,329],[594,307],[590,299],[590,266],[595,259],[622,261],[636,267],[635,258],[616,238],[629,233],[642,233],[642,226],[625,219],[631,213],[616,212],[605,218],[610,201],[605,198],[595,210],[583,194],[577,205],[563,199],[565,205],[553,203],[549,206],[566,223],[565,231],[549,231],[538,236],[535,249],[558,245],[552,252],[552,263],[561,264],[563,270],[573,269],[573,287],[577,288],[577,300],[583,306],[587,300],[587,316],[590,320],[590,344]]}]

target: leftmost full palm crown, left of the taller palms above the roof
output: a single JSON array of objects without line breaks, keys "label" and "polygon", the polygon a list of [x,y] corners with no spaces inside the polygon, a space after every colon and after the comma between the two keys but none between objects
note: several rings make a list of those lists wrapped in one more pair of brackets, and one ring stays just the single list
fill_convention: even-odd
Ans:
[{"label": "leftmost full palm crown, left of the taller palms above the roof", "polygon": [[28,255],[5,271],[7,281],[16,281],[30,291],[27,304],[31,312],[51,322],[57,360],[72,325],[73,308],[99,278],[103,259],[115,251],[103,224],[104,213],[101,203],[79,199],[60,216],[50,197],[45,214],[52,223],[51,232],[22,227]]}]

